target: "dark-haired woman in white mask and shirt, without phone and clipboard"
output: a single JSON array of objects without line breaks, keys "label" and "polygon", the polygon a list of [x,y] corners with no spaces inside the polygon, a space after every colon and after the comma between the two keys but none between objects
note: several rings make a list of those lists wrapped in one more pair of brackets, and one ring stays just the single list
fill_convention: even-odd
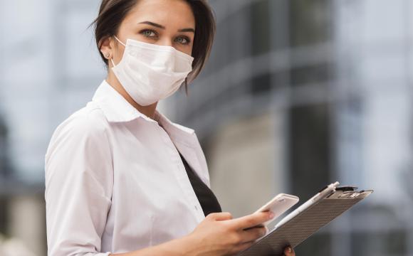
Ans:
[{"label": "dark-haired woman in white mask and shirt, without phone and clipboard", "polygon": [[271,213],[220,213],[196,134],[156,110],[209,55],[206,1],[103,0],[94,24],[108,77],[48,146],[48,255],[234,255],[249,247]]}]

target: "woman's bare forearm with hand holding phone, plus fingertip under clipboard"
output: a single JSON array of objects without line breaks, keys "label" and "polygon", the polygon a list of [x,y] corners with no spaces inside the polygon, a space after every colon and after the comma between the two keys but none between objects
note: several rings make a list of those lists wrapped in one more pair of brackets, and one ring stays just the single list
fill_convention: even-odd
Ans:
[{"label": "woman's bare forearm with hand holding phone, plus fingertip under clipboard", "polygon": [[[253,213],[234,220],[231,213],[211,213],[206,216],[202,223],[199,223],[192,233],[183,238],[177,238],[142,250],[115,255],[236,255],[236,253],[251,246],[254,240],[268,232],[267,228],[257,227],[257,225],[271,218],[271,213],[268,212]],[[284,255],[295,256],[296,254],[287,247]]]}]

